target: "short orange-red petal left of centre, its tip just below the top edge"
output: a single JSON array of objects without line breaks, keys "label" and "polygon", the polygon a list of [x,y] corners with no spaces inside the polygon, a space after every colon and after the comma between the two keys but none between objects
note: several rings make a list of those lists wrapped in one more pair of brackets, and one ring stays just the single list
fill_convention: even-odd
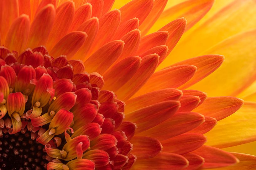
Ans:
[{"label": "short orange-red petal left of centre, its tip just below the top edge", "polygon": [[82,23],[91,18],[91,7],[90,3],[86,3],[76,9],[74,19],[69,28],[70,31],[76,31]]}]

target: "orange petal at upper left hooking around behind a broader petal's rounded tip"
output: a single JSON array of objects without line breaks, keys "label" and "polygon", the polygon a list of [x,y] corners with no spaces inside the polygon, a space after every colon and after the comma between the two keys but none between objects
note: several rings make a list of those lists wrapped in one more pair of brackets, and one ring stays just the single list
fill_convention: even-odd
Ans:
[{"label": "orange petal at upper left hooking around behind a broader petal's rounded tip", "polygon": [[96,17],[92,17],[88,19],[86,22],[84,22],[83,24],[81,24],[81,26],[77,30],[86,32],[88,37],[86,38],[86,41],[81,46],[81,48],[77,51],[77,53],[73,58],[85,61],[89,57],[87,55],[87,52],[91,48],[91,45],[99,30],[99,19]]}]

